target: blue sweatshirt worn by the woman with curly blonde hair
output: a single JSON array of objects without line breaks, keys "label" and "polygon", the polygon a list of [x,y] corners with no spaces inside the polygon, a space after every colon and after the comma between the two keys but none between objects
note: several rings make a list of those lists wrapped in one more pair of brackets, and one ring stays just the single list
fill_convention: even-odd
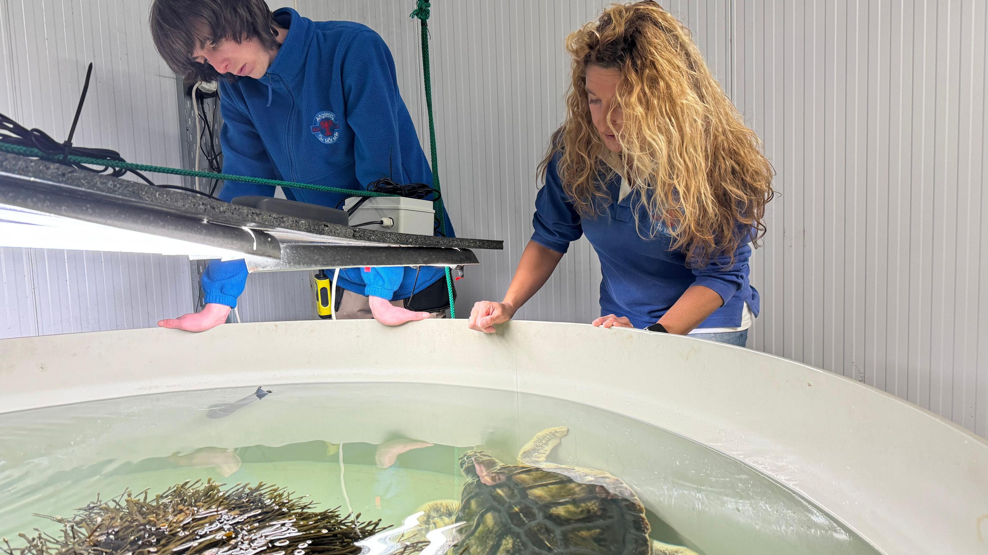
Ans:
[{"label": "blue sweatshirt worn by the woman with curly blonde hair", "polygon": [[[720,295],[724,304],[700,324],[700,328],[736,328],[747,302],[752,312],[759,312],[759,295],[748,280],[751,245],[745,244],[730,256],[718,256],[703,268],[687,267],[686,256],[670,250],[672,238],[661,230],[652,239],[646,228],[650,221],[644,206],[632,192],[619,202],[620,176],[605,183],[611,196],[610,206],[594,217],[581,217],[562,189],[556,163],[549,163],[545,187],[535,198],[535,233],[539,245],[565,253],[569,244],[586,234],[601,259],[601,315],[626,316],[635,328],[645,328],[679,300],[691,285],[709,287]],[[638,210],[641,235],[636,229],[633,210]]]}]

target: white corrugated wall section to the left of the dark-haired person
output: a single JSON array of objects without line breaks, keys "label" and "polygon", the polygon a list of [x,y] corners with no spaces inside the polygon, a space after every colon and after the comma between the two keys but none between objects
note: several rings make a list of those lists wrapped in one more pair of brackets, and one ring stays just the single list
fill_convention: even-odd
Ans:
[{"label": "white corrugated wall section to the left of the dark-haired person", "polygon": [[[93,61],[75,143],[178,164],[175,81],[148,5],[0,0],[0,112],[64,138]],[[0,338],[142,328],[193,306],[185,257],[0,248],[0,279]]]}]

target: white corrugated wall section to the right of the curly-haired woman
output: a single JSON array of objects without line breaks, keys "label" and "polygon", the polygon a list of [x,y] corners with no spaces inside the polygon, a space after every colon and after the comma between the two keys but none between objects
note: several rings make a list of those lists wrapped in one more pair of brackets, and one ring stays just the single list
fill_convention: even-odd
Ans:
[{"label": "white corrugated wall section to the right of the curly-haired woman", "polygon": [[988,435],[988,3],[733,0],[731,27],[781,193],[753,346]]}]

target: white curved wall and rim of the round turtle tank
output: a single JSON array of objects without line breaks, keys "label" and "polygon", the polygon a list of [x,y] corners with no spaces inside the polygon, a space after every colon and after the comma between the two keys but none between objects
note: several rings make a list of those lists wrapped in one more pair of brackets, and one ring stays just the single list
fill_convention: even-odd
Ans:
[{"label": "white curved wall and rim of the round turtle tank", "polygon": [[[314,382],[444,384],[542,395],[637,419],[734,457],[881,552],[988,553],[984,439],[842,376],[686,337],[540,322],[512,322],[484,335],[467,330],[463,320],[398,328],[373,321],[238,324],[204,334],[128,330],[0,341],[0,378],[0,413],[171,391]],[[480,427],[469,421],[479,423],[484,415],[456,399],[411,413],[397,413],[398,406],[369,403],[312,428],[324,439],[331,430],[336,442],[373,441],[362,428],[385,420],[398,423],[408,437],[448,445],[480,442]],[[551,403],[531,410],[551,411]],[[451,427],[450,413],[463,426]],[[287,422],[297,417],[284,415]],[[197,445],[195,427],[178,421],[169,426],[147,442],[168,452]],[[298,427],[273,427],[271,434],[271,444],[314,437]],[[607,430],[584,435],[606,442]],[[238,429],[231,426],[226,437],[229,445],[217,446],[236,446]],[[119,445],[134,456],[145,447]],[[648,464],[628,462],[635,468]],[[647,476],[622,478],[647,482]],[[639,487],[638,494],[687,535],[701,537],[712,519],[739,518],[718,514],[716,503],[689,515],[675,510],[668,485]],[[820,533],[812,522],[790,518],[784,508],[769,509],[775,513],[757,515],[765,520],[763,528],[819,539],[809,537]],[[759,541],[752,534],[745,551],[759,552]],[[729,549],[709,546],[711,553]]]}]

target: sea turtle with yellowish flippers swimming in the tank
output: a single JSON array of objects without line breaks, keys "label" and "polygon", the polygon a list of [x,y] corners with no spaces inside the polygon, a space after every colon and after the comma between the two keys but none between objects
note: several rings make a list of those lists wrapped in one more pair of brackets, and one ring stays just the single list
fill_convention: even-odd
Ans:
[{"label": "sea turtle with yellowish flippers swimming in the tank", "polygon": [[455,555],[696,555],[648,537],[638,496],[602,470],[546,462],[568,429],[535,435],[504,464],[483,451],[459,457],[467,482],[460,502],[421,508],[427,530],[452,526]]}]

